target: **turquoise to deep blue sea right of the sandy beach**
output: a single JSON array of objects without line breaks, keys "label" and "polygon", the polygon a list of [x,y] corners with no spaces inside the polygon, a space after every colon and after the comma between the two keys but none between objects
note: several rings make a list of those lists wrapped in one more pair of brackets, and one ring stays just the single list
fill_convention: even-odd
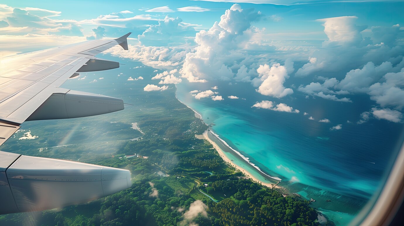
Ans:
[{"label": "turquoise to deep blue sea right of the sandy beach", "polygon": [[[189,94],[214,85],[224,100],[196,100]],[[239,99],[226,98],[229,95]],[[322,208],[338,225],[348,224],[382,186],[403,141],[402,124],[377,119],[357,124],[360,113],[375,103],[366,95],[349,97],[353,103],[307,99],[299,93],[279,100],[258,94],[246,83],[177,85],[177,98],[200,113],[206,123],[213,123],[213,132],[229,146],[263,172],[282,178],[280,185],[304,198],[316,199],[312,205]],[[300,113],[251,107],[261,100],[285,103]],[[309,116],[316,120],[309,120]],[[318,122],[324,118],[331,122]],[[342,125],[341,130],[330,130],[337,124]]]}]

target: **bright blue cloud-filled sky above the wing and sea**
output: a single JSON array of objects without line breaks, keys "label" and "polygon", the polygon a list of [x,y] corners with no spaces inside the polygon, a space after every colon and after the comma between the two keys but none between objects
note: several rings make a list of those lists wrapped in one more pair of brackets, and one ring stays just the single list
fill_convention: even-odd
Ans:
[{"label": "bright blue cloud-filled sky above the wing and sea", "polygon": [[[300,93],[353,103],[349,95],[367,94],[375,105],[360,120],[402,122],[402,8],[366,0],[3,1],[0,48],[6,56],[133,32],[129,51],[109,53],[166,71],[158,84],[246,82],[279,101]],[[198,94],[223,99],[218,90]]]}]

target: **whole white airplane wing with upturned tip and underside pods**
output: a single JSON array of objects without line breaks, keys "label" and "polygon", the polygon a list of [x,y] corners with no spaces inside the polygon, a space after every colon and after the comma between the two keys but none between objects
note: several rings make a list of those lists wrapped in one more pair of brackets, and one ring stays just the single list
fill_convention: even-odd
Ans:
[{"label": "whole white airplane wing with upturned tip and underside pods", "polygon": [[[124,109],[121,99],[59,86],[80,72],[118,68],[118,62],[95,56],[115,45],[128,50],[129,35],[0,59],[0,146],[24,121]],[[77,204],[130,186],[128,170],[0,151],[0,214]]]}]

